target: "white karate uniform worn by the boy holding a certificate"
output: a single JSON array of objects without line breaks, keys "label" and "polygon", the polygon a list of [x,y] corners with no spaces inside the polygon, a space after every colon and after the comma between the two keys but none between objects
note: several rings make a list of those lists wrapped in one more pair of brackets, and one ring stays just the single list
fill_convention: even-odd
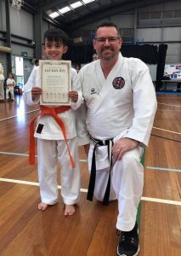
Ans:
[{"label": "white karate uniform worn by the boy holding a certificate", "polygon": [[[40,183],[40,194],[42,202],[48,205],[54,205],[58,201],[57,190],[57,163],[61,165],[61,195],[66,205],[73,205],[79,201],[80,193],[80,168],[79,155],[76,139],[76,125],[74,110],[79,108],[82,103],[82,93],[80,87],[75,87],[76,70],[71,68],[72,90],[78,90],[77,102],[71,103],[71,108],[64,113],[58,113],[58,116],[65,124],[67,142],[71,151],[72,158],[76,164],[71,168],[71,162],[68,150],[65,144],[65,138],[61,128],[50,115],[42,115],[37,119],[38,125],[42,125],[42,131],[37,132],[37,163],[38,177]],[[31,89],[34,86],[40,86],[39,67],[34,67],[31,76],[24,87],[24,101],[28,105],[39,103],[39,96],[35,101],[31,98]],[[57,108],[59,106],[47,106],[48,108]]]}]

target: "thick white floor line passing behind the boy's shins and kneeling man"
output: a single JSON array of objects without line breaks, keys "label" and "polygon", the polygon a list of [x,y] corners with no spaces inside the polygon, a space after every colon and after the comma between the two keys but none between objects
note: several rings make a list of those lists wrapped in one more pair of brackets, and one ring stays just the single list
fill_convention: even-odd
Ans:
[{"label": "thick white floor line passing behind the boy's shins and kneeling man", "polygon": [[[18,179],[3,178],[3,177],[0,177],[0,182],[19,183],[19,184],[39,187],[39,183],[28,182],[28,181],[23,181],[23,180],[18,180]],[[58,189],[61,189],[61,186],[58,186]],[[81,189],[81,192],[87,193],[88,189]],[[153,197],[145,197],[145,196],[142,196],[141,200],[142,201],[158,202],[158,203],[169,204],[169,205],[174,205],[174,206],[181,206],[181,201],[173,201],[173,200],[166,200],[166,199],[161,199],[161,198],[153,198]]]}]

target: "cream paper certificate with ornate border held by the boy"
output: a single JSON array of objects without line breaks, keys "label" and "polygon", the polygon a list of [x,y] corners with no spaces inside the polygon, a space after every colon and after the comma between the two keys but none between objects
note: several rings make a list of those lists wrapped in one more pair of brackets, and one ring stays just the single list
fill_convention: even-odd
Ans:
[{"label": "cream paper certificate with ornate border held by the boy", "polygon": [[39,61],[41,105],[71,105],[71,61]]}]

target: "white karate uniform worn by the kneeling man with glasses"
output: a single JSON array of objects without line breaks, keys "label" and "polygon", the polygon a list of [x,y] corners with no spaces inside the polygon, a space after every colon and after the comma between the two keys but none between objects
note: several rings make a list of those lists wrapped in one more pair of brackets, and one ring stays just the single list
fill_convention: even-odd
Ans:
[{"label": "white karate uniform worn by the kneeling man with glasses", "polygon": [[[82,85],[82,94],[88,112],[85,122],[78,120],[79,144],[89,143],[89,134],[99,140],[121,137],[139,141],[139,146],[123,155],[114,163],[111,172],[110,201],[118,200],[119,214],[116,228],[129,231],[136,220],[139,201],[143,192],[144,168],[140,164],[143,147],[149,143],[156,113],[156,93],[149,68],[136,58],[124,58],[121,54],[116,65],[105,79],[100,61],[82,67],[77,84]],[[78,109],[85,114],[85,109]],[[82,124],[80,123],[82,121]],[[82,137],[84,134],[84,138]],[[88,154],[88,169],[92,164],[94,143],[91,140]],[[96,150],[96,182],[94,196],[103,201],[109,175],[107,147]]]}]

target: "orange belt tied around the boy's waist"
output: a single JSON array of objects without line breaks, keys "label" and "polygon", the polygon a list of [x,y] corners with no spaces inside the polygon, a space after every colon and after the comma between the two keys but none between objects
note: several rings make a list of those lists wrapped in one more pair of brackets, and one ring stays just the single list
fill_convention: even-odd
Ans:
[{"label": "orange belt tied around the boy's waist", "polygon": [[65,138],[65,143],[66,143],[66,147],[67,147],[67,150],[68,150],[68,153],[69,153],[69,157],[70,157],[70,160],[71,160],[71,167],[72,168],[76,167],[76,165],[74,163],[74,160],[71,156],[71,152],[70,152],[68,143],[67,143],[65,124],[62,121],[62,119],[60,119],[59,116],[57,115],[57,113],[63,113],[65,111],[69,110],[70,108],[71,108],[70,106],[61,106],[61,107],[58,107],[58,108],[48,108],[48,107],[45,107],[45,106],[40,106],[41,113],[39,113],[38,116],[31,121],[31,125],[30,125],[30,148],[29,148],[29,150],[30,150],[29,164],[30,165],[35,164],[35,137],[34,137],[35,122],[36,122],[36,120],[39,116],[41,116],[43,114],[48,114],[48,115],[51,115],[55,119],[55,121],[57,122],[57,124],[61,128],[61,130],[63,132],[63,135],[64,135],[64,138]]}]

